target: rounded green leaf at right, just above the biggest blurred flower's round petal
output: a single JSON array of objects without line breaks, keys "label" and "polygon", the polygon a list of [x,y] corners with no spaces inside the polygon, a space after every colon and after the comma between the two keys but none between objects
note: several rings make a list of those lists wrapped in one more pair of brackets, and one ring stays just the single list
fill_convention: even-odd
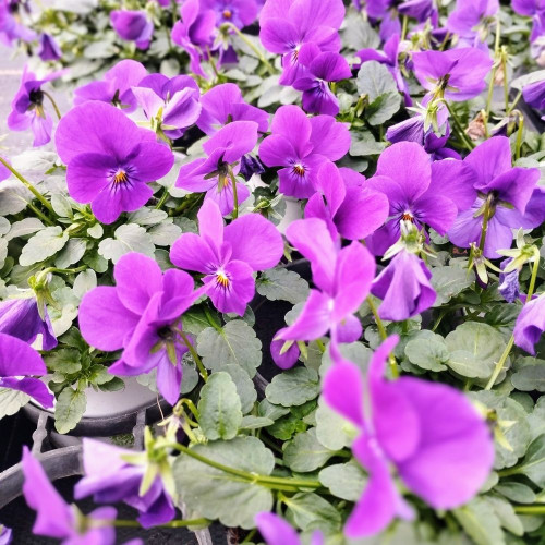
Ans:
[{"label": "rounded green leaf at right, just above the biggest blurred flower's round petal", "polygon": [[445,341],[450,352],[447,365],[469,378],[488,378],[506,348],[497,329],[475,322],[458,326]]}]

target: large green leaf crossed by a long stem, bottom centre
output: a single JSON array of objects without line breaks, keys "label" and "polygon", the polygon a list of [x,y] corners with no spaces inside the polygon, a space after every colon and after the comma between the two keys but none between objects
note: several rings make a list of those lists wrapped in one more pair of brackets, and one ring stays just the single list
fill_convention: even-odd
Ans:
[{"label": "large green leaf crossed by a long stem, bottom centre", "polygon": [[[255,437],[196,445],[192,450],[215,462],[261,475],[270,475],[275,457]],[[202,517],[226,526],[255,526],[254,517],[272,509],[272,493],[255,482],[246,482],[181,455],[173,465],[181,499]]]}]

